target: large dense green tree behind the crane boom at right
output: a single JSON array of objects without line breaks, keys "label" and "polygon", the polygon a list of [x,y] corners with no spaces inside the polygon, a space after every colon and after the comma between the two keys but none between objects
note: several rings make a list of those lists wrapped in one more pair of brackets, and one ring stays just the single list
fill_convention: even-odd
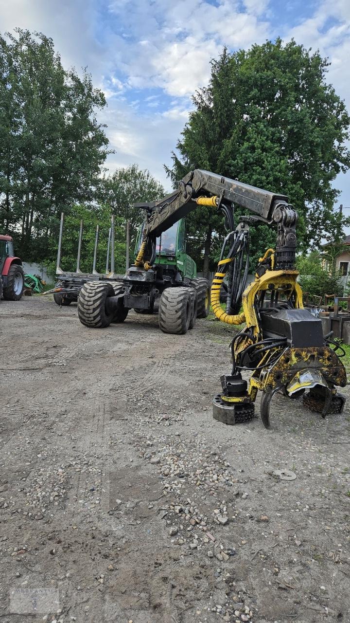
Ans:
[{"label": "large dense green tree behind the crane boom at right", "polygon": [[[300,248],[319,245],[336,226],[332,182],[350,166],[345,141],[350,118],[326,83],[328,61],[291,40],[253,45],[211,62],[209,85],[192,97],[194,110],[173,153],[173,182],[194,168],[286,194],[299,214]],[[240,211],[242,212],[242,211]],[[222,235],[215,210],[189,217],[204,249],[204,272],[214,232]],[[345,220],[343,221],[345,223]],[[252,228],[253,260],[274,244],[275,233]]]}]

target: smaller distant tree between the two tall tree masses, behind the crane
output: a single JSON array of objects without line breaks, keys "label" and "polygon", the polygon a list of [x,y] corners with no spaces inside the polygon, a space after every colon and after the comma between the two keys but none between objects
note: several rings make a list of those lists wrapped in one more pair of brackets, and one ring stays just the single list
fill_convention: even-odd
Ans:
[{"label": "smaller distant tree between the two tall tree masses, behind the crane", "polygon": [[136,242],[138,228],[144,221],[144,210],[134,207],[135,203],[150,202],[164,197],[164,188],[147,169],[130,164],[116,169],[104,178],[105,201],[110,203],[117,217],[130,221],[130,247]]}]

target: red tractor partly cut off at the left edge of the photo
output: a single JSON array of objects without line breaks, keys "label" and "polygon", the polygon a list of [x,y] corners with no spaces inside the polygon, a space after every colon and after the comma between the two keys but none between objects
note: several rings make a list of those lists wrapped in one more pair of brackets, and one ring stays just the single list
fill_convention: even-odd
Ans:
[{"label": "red tractor partly cut off at the left edge of the photo", "polygon": [[14,255],[11,236],[0,234],[0,299],[19,301],[23,288],[22,260]]}]

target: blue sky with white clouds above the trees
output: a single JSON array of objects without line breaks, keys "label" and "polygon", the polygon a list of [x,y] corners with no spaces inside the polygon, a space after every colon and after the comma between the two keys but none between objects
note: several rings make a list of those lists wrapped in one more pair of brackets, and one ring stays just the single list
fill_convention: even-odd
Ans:
[{"label": "blue sky with white clouds above the trees", "polygon": [[[16,26],[52,37],[65,67],[87,67],[105,92],[110,171],[136,162],[166,188],[191,93],[224,44],[280,36],[319,49],[350,108],[350,0],[0,0],[0,31]],[[335,184],[350,206],[350,174]]]}]

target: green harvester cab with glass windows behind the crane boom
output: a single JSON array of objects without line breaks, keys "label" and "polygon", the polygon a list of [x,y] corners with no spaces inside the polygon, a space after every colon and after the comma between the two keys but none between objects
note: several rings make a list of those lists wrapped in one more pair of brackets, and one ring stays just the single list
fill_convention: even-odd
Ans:
[{"label": "green harvester cab with glass windows behind the crane boom", "polygon": [[[140,227],[136,239],[135,258],[140,251],[143,227],[143,225]],[[165,273],[180,273],[183,280],[196,277],[196,262],[186,254],[185,219],[179,219],[156,239],[156,260],[154,264]]]}]

